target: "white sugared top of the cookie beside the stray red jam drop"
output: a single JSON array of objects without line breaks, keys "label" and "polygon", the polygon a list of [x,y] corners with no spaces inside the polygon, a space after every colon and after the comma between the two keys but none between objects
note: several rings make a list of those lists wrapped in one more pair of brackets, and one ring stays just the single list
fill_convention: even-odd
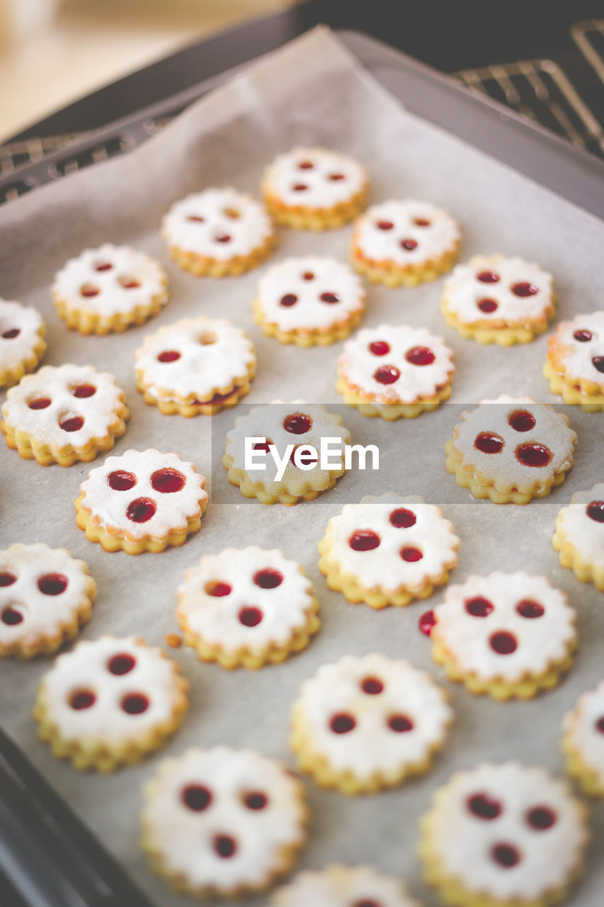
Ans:
[{"label": "white sugared top of the cookie beside the stray red jam drop", "polygon": [[575,611],[550,580],[528,573],[470,576],[449,586],[434,609],[432,639],[442,643],[463,674],[508,682],[543,674],[565,658]]}]

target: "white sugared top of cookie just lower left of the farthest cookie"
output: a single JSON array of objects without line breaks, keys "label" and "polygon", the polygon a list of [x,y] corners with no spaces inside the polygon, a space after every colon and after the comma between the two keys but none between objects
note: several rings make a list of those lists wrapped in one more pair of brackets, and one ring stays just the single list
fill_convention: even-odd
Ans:
[{"label": "white sugared top of cookie just lower left of the farthest cookie", "polygon": [[229,261],[249,255],[273,233],[267,212],[247,192],[205,189],[175,201],[161,221],[170,249]]}]

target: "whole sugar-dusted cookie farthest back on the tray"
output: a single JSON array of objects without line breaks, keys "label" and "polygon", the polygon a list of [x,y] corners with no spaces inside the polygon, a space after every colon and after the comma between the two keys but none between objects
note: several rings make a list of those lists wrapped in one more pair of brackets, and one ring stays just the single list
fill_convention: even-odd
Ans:
[{"label": "whole sugar-dusted cookie farthest back on the tray", "polygon": [[356,218],[368,185],[365,168],[354,158],[325,148],[294,148],[268,165],[261,189],[278,223],[324,230]]}]

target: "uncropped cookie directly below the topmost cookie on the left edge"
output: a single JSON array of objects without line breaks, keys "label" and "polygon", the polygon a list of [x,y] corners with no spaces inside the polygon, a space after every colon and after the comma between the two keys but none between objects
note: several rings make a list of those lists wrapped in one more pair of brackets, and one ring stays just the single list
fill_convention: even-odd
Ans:
[{"label": "uncropped cookie directly below the topmost cookie on the left edge", "polygon": [[41,466],[88,463],[126,431],[125,395],[93,366],[44,366],[11,387],[2,405],[6,444]]}]

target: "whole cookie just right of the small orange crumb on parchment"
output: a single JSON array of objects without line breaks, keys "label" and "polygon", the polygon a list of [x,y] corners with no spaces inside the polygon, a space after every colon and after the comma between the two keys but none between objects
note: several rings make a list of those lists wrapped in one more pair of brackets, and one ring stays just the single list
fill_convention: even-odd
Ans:
[{"label": "whole cookie just right of the small orange crumb on parchment", "polygon": [[261,668],[305,649],[319,603],[297,561],[252,545],[204,554],[178,589],[184,641],[223,668]]}]

